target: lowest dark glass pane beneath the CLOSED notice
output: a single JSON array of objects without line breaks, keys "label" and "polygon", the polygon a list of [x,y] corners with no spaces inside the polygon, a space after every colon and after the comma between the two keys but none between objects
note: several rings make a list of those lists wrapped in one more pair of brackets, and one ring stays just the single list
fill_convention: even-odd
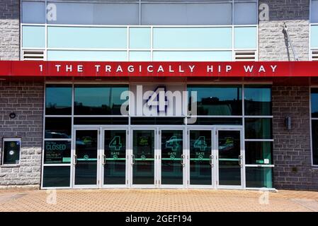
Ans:
[{"label": "lowest dark glass pane beneath the CLOSED notice", "polygon": [[71,167],[43,167],[43,187],[70,186]]}]

